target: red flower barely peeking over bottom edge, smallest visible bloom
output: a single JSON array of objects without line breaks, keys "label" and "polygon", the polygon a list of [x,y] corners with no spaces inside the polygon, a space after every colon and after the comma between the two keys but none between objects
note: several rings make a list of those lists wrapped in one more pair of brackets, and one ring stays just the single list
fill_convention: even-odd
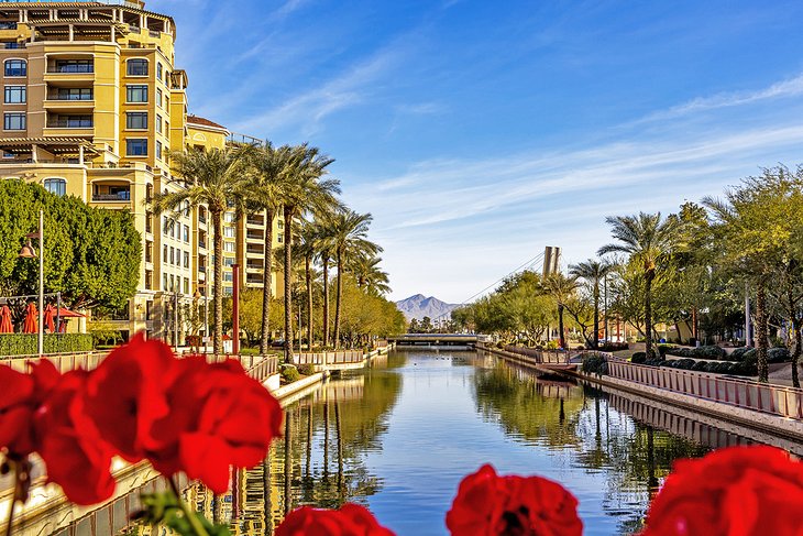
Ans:
[{"label": "red flower barely peeking over bottom edge, smallest visible bloom", "polygon": [[394,536],[365,507],[344,504],[340,510],[302,506],[276,527],[276,536]]}]

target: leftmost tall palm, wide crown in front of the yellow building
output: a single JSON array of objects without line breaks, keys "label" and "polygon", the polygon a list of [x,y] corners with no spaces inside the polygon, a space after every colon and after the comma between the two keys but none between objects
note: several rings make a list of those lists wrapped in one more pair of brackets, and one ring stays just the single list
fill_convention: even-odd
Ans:
[{"label": "leftmost tall palm, wide crown in front of the yellow building", "polygon": [[186,152],[174,152],[170,164],[175,175],[170,175],[169,184],[180,185],[177,192],[157,194],[154,197],[154,212],[173,210],[178,212],[187,207],[206,206],[212,220],[213,261],[213,303],[215,337],[212,349],[215,354],[223,350],[223,233],[221,220],[231,206],[238,204],[244,182],[245,160],[241,149],[188,149]]}]

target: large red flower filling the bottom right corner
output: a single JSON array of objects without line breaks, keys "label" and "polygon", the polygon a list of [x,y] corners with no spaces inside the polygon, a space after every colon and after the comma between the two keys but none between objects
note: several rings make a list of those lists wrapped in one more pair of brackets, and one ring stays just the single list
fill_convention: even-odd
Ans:
[{"label": "large red flower filling the bottom right corner", "polygon": [[730,447],[675,462],[642,536],[801,536],[803,463],[774,447]]}]

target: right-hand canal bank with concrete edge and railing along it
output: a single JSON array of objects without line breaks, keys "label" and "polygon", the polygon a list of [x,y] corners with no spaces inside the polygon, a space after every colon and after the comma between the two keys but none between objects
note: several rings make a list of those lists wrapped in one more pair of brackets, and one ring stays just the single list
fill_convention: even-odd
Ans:
[{"label": "right-hand canal bank with concrete edge and railing along it", "polygon": [[[541,363],[537,358],[531,355],[515,353],[494,347],[480,346],[479,350],[488,351],[504,359],[526,364],[540,373],[561,374],[566,378],[574,378],[593,384],[616,389],[626,393],[658,401],[663,404],[670,404],[680,408],[698,412],[714,419],[722,419],[725,423],[751,428],[763,435],[768,435],[770,437],[776,436],[783,440],[791,441],[791,444],[803,446],[803,419],[801,418],[803,417],[803,400],[796,391],[791,389],[779,389],[770,385],[755,386],[750,385],[750,383],[746,381],[737,382],[729,379],[719,380],[713,374],[695,373],[691,371],[670,371],[667,369],[661,370],[657,367],[635,365],[625,361],[612,359],[608,363],[609,371],[615,369],[614,372],[619,373],[624,378],[640,380],[630,381],[623,378],[614,378],[612,375],[584,373],[580,370],[580,363],[574,363],[574,367],[561,369]],[[628,370],[628,368],[630,369]],[[654,372],[654,374],[650,375],[650,372]],[[666,373],[671,374],[672,378],[664,378]],[[680,380],[678,380],[678,378],[680,378]],[[698,393],[701,394],[715,392],[719,395],[724,389],[725,398],[727,400],[727,395],[732,394],[730,398],[734,403],[706,400],[706,397],[703,396],[695,396],[693,394],[646,384],[646,382],[650,381],[650,379],[657,380],[656,383],[658,384],[663,383],[670,386],[680,386],[682,384],[685,387],[688,384],[691,384],[694,387],[696,385],[698,386]],[[712,382],[714,382],[715,385],[713,390],[710,387]],[[766,397],[766,406],[768,408],[780,411],[780,408],[783,407],[784,415],[739,407],[739,394],[741,393],[743,400],[746,398],[745,402],[747,402],[749,401],[749,395],[754,389],[757,390],[757,394],[754,398],[758,397],[761,404],[765,404]],[[759,391],[765,389],[767,390],[766,393],[763,391]],[[781,400],[777,393],[781,393],[783,398]]]}]

